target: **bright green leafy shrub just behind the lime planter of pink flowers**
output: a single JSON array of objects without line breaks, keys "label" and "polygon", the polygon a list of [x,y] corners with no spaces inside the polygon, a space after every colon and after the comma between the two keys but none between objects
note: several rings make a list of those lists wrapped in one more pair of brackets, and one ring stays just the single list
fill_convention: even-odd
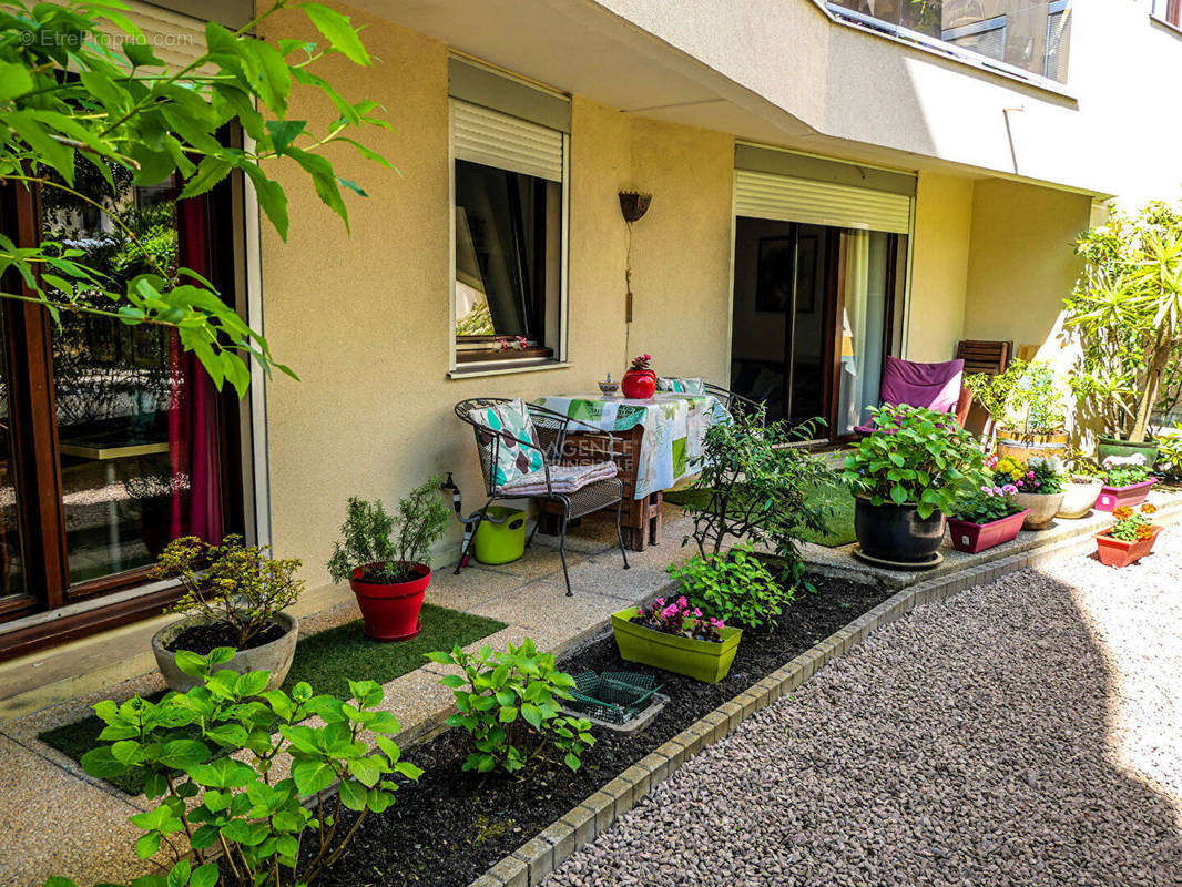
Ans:
[{"label": "bright green leafy shrub just behind the lime planter of pink flowers", "polygon": [[695,555],[682,565],[670,564],[668,572],[696,609],[728,626],[774,629],[777,616],[795,596],[791,587],[775,581],[751,545],[736,545],[710,561]]}]

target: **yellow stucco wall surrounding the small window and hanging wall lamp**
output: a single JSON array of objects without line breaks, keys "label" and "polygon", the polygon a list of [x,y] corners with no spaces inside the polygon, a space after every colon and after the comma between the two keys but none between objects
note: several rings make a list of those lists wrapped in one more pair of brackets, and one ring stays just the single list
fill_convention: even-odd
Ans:
[{"label": "yellow stucco wall surrounding the small window and hanging wall lamp", "polygon": [[[729,136],[643,121],[576,97],[570,187],[569,368],[449,380],[447,48],[401,26],[349,11],[381,58],[324,72],[353,101],[388,109],[391,131],[364,134],[402,171],[390,175],[351,149],[332,154],[339,175],[368,200],[350,199],[352,235],[306,179],[286,171],[287,244],[264,227],[262,302],[278,360],[301,377],[267,389],[272,539],[301,557],[310,585],[345,500],[397,497],[431,472],[453,471],[467,509],[483,501],[475,446],[453,414],[480,395],[532,397],[593,390],[624,370],[626,228],[617,192],[654,194],[636,225],[634,354],[662,373],[726,380],[730,168]],[[311,38],[299,15],[265,22],[268,39]],[[296,104],[323,130],[327,103]],[[479,501],[478,501],[479,499]],[[459,524],[439,546],[454,558]]]}]

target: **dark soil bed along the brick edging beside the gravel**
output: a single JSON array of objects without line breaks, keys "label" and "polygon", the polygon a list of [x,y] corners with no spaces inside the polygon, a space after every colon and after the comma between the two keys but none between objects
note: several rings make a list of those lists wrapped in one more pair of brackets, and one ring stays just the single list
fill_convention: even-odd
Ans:
[{"label": "dark soil bed along the brick edging beside the gravel", "polygon": [[[417,784],[398,790],[394,807],[365,818],[348,852],[317,883],[467,885],[695,720],[892,594],[844,580],[820,578],[817,588],[817,594],[798,598],[774,634],[745,633],[730,674],[719,684],[624,662],[610,635],[567,656],[561,665],[571,673],[647,672],[670,697],[638,733],[596,727],[596,745],[577,773],[548,762],[524,778],[463,773],[468,737],[456,730],[407,749],[405,757],[427,772]],[[348,816],[346,827],[355,815]]]}]

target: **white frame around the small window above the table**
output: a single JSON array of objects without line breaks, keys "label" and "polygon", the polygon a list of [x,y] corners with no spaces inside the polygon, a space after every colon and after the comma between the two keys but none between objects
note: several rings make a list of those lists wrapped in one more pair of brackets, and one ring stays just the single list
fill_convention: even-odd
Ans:
[{"label": "white frame around the small window above the table", "polygon": [[[465,99],[448,97],[448,377],[469,378],[473,376],[496,375],[502,373],[525,373],[530,370],[556,369],[569,365],[567,338],[570,331],[570,227],[571,227],[571,134],[554,130],[563,137],[563,181],[561,184],[561,213],[558,237],[559,242],[559,268],[558,268],[558,338],[554,344],[546,345],[552,351],[550,355],[530,354],[528,351],[514,356],[513,352],[505,352],[505,356],[494,355],[491,351],[479,351],[479,357],[468,361],[457,360],[455,336],[455,108],[456,103]],[[467,102],[466,104],[474,104]],[[491,109],[495,110],[495,109]],[[498,111],[498,114],[506,114]],[[514,115],[508,115],[514,116]],[[543,125],[543,124],[535,124]],[[494,167],[500,169],[501,167]]]}]

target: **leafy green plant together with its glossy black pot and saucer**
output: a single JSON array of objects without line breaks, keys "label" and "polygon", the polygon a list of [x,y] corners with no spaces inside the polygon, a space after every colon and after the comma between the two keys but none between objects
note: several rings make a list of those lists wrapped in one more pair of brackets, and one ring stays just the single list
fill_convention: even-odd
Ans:
[{"label": "leafy green plant together with its glossy black pot and saucer", "polygon": [[957,490],[980,478],[980,445],[946,413],[907,404],[870,412],[876,430],[855,445],[842,473],[856,493],[860,551],[901,565],[931,563]]}]

